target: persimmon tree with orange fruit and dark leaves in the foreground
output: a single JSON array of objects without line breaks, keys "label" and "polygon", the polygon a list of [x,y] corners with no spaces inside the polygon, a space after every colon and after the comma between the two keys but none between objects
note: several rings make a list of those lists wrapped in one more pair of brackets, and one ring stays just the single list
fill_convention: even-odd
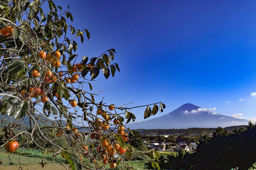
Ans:
[{"label": "persimmon tree with orange fruit and dark leaves in the foreground", "polygon": [[[84,37],[90,38],[90,32],[70,24],[75,19],[68,9],[69,6],[63,10],[52,0],[0,0],[0,112],[6,116],[1,120],[6,123],[2,129],[6,142],[1,147],[19,142],[19,135],[27,134],[27,142],[19,147],[33,143],[53,157],[62,154],[74,170],[82,166],[101,169],[107,163],[111,168],[132,168],[127,161],[139,151],[129,144],[131,132],[125,127],[136,119],[131,110],[146,107],[146,119],[158,110],[162,112],[165,105],[158,102],[127,107],[105,103],[103,99],[95,101],[97,91],[90,82],[101,72],[108,79],[120,71],[113,63],[116,51],[112,48],[98,52],[98,57],[92,58],[75,54],[76,41],[83,43]],[[26,118],[29,127],[23,123]],[[77,121],[83,126],[76,127]],[[56,138],[47,138],[45,130]],[[40,146],[35,135],[53,149]],[[91,143],[89,149],[87,137],[97,145]],[[59,139],[66,142],[66,149],[56,143]],[[140,157],[159,168],[153,161],[157,158],[154,150],[144,154],[150,158]],[[45,159],[41,165],[45,165]]]}]

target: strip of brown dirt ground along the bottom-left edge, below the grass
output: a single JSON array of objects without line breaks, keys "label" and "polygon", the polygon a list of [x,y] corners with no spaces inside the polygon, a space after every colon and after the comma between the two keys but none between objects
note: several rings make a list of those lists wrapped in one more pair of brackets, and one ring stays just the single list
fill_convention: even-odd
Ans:
[{"label": "strip of brown dirt ground along the bottom-left edge, below the grass", "polygon": [[[65,166],[67,169],[69,169],[68,166]],[[0,166],[0,170],[18,170],[19,166]],[[41,165],[22,165],[22,170],[65,170],[65,168],[62,165],[59,164],[49,164],[45,165],[44,168],[42,168]]]}]

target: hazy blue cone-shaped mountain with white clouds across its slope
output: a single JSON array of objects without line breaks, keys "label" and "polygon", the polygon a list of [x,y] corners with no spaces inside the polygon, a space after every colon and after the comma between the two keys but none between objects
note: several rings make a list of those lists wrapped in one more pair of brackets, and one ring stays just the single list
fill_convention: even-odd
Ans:
[{"label": "hazy blue cone-shaped mountain with white clouds across its slope", "polygon": [[130,129],[188,129],[192,127],[227,127],[246,125],[248,120],[217,114],[191,103],[150,120],[127,124]]}]

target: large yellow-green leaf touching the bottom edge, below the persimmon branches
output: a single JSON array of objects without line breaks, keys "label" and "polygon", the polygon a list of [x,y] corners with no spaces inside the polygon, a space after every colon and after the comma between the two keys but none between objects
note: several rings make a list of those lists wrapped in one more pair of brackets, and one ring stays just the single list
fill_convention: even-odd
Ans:
[{"label": "large yellow-green leaf touching the bottom edge, below the persimmon branches", "polygon": [[78,156],[71,154],[68,151],[62,151],[61,154],[67,158],[71,170],[82,170],[82,163]]}]

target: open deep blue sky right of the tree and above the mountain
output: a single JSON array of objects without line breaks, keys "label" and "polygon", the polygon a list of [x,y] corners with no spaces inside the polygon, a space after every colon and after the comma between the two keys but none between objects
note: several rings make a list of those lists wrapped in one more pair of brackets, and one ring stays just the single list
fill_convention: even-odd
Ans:
[{"label": "open deep blue sky right of the tree and above the mountain", "polygon": [[[79,58],[116,49],[121,72],[92,82],[106,103],[184,103],[256,118],[256,1],[68,0],[75,29],[88,29]],[[85,86],[86,87],[86,86]],[[85,89],[86,90],[86,89]],[[88,88],[89,90],[89,88]],[[143,120],[145,108],[132,110]],[[242,114],[242,115],[241,115]],[[239,115],[236,115],[239,116]],[[255,119],[256,120],[256,119]]]}]

